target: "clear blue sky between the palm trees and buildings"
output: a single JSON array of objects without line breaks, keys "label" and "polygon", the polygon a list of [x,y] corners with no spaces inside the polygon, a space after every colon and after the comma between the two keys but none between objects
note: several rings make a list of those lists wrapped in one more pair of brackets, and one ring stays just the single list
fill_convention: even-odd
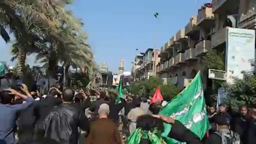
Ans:
[{"label": "clear blue sky between the palm trees and buildings", "polygon": [[[172,35],[188,24],[190,16],[211,0],[75,0],[69,8],[84,22],[88,43],[98,65],[106,62],[110,71],[118,72],[124,59],[125,71],[138,52],[161,47]],[[159,13],[159,22],[154,13]],[[138,51],[136,51],[138,48]],[[10,45],[0,38],[0,61],[10,60]],[[27,63],[34,65],[33,56]]]}]

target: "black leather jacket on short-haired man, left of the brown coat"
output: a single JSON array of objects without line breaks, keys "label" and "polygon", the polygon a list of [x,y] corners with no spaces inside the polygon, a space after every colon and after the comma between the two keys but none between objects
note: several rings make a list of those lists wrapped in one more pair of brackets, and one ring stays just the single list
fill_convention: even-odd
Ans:
[{"label": "black leather jacket on short-haired man, left of the brown coat", "polygon": [[85,113],[74,104],[61,104],[38,125],[37,134],[62,144],[77,144],[78,127],[89,133]]}]

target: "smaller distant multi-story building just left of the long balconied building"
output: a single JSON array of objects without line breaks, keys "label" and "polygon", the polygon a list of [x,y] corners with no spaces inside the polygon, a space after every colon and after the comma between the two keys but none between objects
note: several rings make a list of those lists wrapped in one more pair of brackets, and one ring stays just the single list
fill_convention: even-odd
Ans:
[{"label": "smaller distant multi-story building just left of the long balconied building", "polygon": [[[158,54],[159,50],[153,50],[153,48],[148,48],[146,52],[141,53],[141,56],[135,56],[133,67],[132,67],[132,76],[134,80],[137,79],[149,79],[151,76],[155,75],[156,65],[160,58]],[[156,57],[154,57],[156,56]],[[155,67],[155,68],[154,68]]]}]

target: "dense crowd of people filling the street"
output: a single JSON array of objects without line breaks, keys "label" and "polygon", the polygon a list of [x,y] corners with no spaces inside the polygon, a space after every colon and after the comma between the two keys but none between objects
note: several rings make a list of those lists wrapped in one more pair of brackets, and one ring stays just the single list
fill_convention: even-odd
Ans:
[{"label": "dense crowd of people filling the street", "polygon": [[[95,95],[96,101],[91,97]],[[203,140],[171,117],[157,115],[166,101],[149,104],[146,97],[124,96],[108,91],[53,86],[42,96],[25,84],[0,91],[0,144],[124,144],[140,128],[145,133],[163,132],[187,144],[253,144],[256,136],[256,107],[240,106],[228,112],[226,104],[208,107],[210,130]],[[120,126],[120,124],[122,125]],[[120,128],[121,127],[121,128]],[[140,144],[152,144],[141,137]]]}]

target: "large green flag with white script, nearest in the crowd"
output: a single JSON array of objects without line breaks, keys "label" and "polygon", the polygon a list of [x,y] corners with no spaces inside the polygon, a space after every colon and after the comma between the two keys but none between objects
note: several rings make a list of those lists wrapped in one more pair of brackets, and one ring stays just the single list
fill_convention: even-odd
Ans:
[{"label": "large green flag with white script, nearest in the crowd", "polygon": [[[206,114],[206,104],[203,95],[203,85],[199,71],[190,85],[166,104],[159,112],[160,115],[170,116],[179,120],[184,126],[202,139],[209,130],[209,121]],[[179,141],[168,138],[171,125],[164,123],[165,131],[162,136],[170,144],[181,144]]]}]

